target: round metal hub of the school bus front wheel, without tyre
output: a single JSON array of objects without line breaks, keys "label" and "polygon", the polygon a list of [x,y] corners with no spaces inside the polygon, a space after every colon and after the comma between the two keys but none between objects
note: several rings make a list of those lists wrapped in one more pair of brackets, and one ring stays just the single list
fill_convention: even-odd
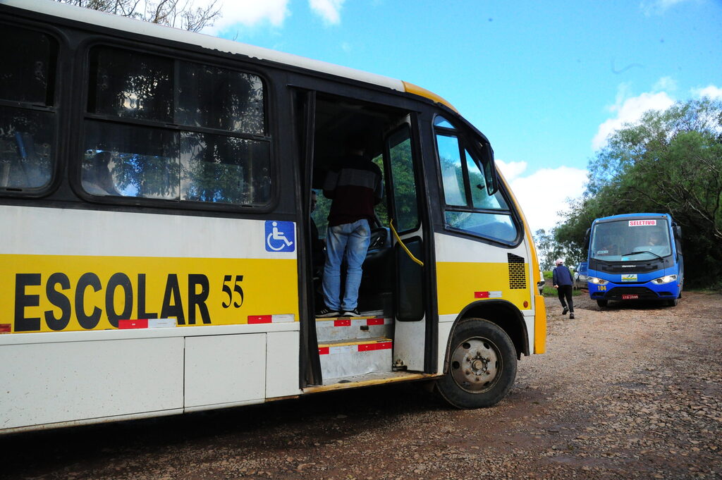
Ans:
[{"label": "round metal hub of the school bus front wheel, without tyre", "polygon": [[480,393],[492,388],[501,371],[501,355],[487,339],[468,339],[451,356],[451,375],[464,390]]}]

